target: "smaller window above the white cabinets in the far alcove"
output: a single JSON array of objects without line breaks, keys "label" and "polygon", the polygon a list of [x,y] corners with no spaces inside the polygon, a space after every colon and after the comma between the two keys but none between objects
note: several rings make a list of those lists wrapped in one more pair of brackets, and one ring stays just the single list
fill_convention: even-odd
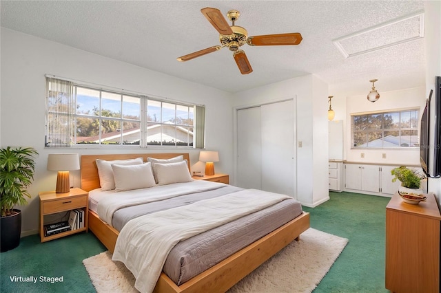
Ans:
[{"label": "smaller window above the white cabinets in the far alcove", "polygon": [[419,147],[418,109],[351,115],[353,148]]}]

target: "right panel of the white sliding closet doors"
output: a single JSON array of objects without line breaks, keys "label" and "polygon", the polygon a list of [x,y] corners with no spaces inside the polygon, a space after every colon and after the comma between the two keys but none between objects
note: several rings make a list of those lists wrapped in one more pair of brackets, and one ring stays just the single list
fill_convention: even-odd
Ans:
[{"label": "right panel of the white sliding closet doors", "polygon": [[294,101],[260,107],[262,189],[294,196]]}]

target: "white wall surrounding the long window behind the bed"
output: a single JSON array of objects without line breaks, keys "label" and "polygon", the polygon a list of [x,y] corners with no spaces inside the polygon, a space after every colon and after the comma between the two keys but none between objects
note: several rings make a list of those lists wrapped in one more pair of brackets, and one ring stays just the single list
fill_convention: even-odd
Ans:
[{"label": "white wall surrounding the long window behind the bed", "polygon": [[[231,94],[1,28],[1,147],[32,146],[39,152],[34,184],[28,189],[32,199],[20,207],[23,235],[36,232],[39,226],[38,193],[55,189],[57,174],[46,170],[48,154],[65,153],[65,149],[44,149],[45,74],[205,105],[206,147],[219,151],[216,172],[232,174]],[[69,149],[80,155],[158,151],[164,150]],[[196,149],[169,152],[181,151],[190,153],[192,164],[198,161]],[[79,171],[71,174],[72,184],[79,187]]]}]

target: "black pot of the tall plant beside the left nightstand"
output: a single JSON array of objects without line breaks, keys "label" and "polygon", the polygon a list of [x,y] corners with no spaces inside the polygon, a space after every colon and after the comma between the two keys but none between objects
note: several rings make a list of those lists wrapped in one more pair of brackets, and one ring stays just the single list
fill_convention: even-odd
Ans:
[{"label": "black pot of the tall plant beside the left nightstand", "polygon": [[0,217],[0,252],[12,250],[20,244],[21,210],[14,215]]}]

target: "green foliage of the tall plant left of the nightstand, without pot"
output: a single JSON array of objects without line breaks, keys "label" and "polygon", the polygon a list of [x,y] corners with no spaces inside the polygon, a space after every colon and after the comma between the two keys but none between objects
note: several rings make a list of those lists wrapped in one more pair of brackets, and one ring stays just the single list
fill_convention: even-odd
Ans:
[{"label": "green foliage of the tall plant left of the nightstand, without pot", "polygon": [[15,205],[27,203],[30,194],[26,190],[34,179],[34,156],[32,147],[0,149],[0,207],[1,217],[13,214]]}]

